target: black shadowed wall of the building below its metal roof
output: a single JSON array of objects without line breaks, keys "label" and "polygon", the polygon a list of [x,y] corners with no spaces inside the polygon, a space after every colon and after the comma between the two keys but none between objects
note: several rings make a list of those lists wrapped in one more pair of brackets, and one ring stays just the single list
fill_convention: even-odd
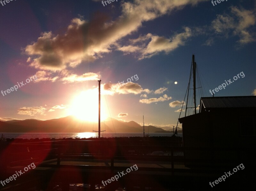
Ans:
[{"label": "black shadowed wall of the building below its metal roof", "polygon": [[[240,118],[251,116],[256,118],[254,108],[218,108],[181,119],[184,147],[210,148],[256,148],[255,136],[242,136]],[[246,130],[246,129],[244,129]],[[254,152],[254,153],[253,153]],[[255,156],[255,150],[250,153]],[[185,151],[185,158],[200,159],[243,159],[248,152],[225,150]]]}]

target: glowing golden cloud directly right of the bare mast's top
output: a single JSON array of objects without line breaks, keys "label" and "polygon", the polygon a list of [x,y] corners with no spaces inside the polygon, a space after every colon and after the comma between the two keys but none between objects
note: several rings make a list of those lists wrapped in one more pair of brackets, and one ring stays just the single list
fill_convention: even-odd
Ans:
[{"label": "glowing golden cloud directly right of the bare mast's top", "polygon": [[127,82],[124,84],[112,84],[112,83],[105,83],[103,85],[103,94],[114,95],[118,94],[140,94],[142,92],[149,93],[149,89],[143,89],[139,84],[133,82]]}]

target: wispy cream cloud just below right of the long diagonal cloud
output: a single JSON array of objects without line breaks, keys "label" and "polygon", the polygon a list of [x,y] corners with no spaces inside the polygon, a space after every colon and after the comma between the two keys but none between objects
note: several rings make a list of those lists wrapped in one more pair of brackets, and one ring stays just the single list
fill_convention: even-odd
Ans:
[{"label": "wispy cream cloud just below right of the long diagonal cloud", "polygon": [[[130,42],[133,43],[132,45],[119,46],[118,50],[123,51],[125,54],[134,52],[139,53],[139,60],[141,60],[150,58],[160,52],[165,52],[167,54],[184,45],[186,40],[191,36],[192,31],[188,27],[185,27],[185,32],[175,34],[169,39],[149,33],[145,36],[140,36],[138,39],[130,40]],[[135,45],[138,42],[140,44]]]}]

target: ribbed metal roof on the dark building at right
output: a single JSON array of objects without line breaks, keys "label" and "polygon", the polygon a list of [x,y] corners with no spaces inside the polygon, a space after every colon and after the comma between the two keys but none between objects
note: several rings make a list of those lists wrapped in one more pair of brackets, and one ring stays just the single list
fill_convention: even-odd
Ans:
[{"label": "ribbed metal roof on the dark building at right", "polygon": [[201,97],[200,108],[256,107],[256,96]]}]

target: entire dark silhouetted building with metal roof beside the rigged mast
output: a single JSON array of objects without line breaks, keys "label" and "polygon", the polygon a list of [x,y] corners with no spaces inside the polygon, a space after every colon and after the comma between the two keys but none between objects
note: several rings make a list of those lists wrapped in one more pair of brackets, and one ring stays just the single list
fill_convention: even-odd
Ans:
[{"label": "entire dark silhouetted building with metal roof beside the rigged mast", "polygon": [[255,158],[256,96],[202,97],[199,113],[179,121],[182,123],[184,147],[210,148],[185,150],[185,158]]}]

